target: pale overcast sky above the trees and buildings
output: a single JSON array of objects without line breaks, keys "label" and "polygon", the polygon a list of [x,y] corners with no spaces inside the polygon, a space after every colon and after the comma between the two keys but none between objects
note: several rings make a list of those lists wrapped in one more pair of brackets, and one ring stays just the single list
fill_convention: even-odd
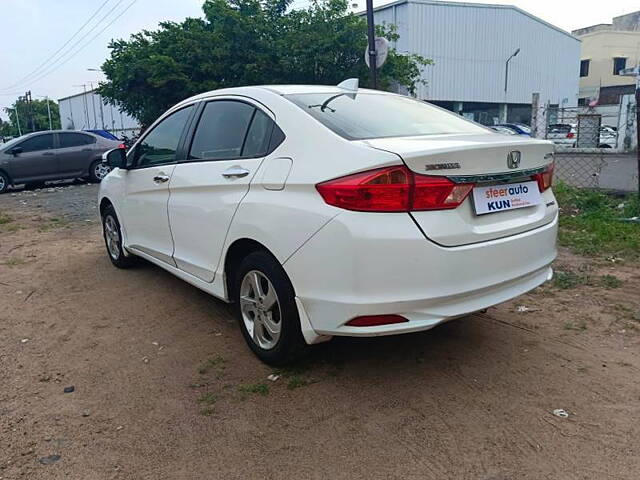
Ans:
[{"label": "pale overcast sky above the trees and buildings", "polygon": [[[307,0],[294,0],[304,6]],[[357,2],[364,8],[365,0]],[[109,56],[111,39],[128,38],[159,22],[202,15],[203,0],[0,0],[0,118],[18,95],[59,99],[94,85]],[[388,0],[374,0],[374,5]],[[467,3],[511,4],[571,31],[638,10],[638,0],[506,0]],[[361,8],[358,8],[360,10]],[[126,11],[125,11],[126,9]],[[92,18],[93,16],[93,18]],[[87,23],[88,22],[88,23]],[[86,26],[83,25],[86,23]],[[75,36],[74,36],[75,35]],[[66,44],[66,45],[65,45]]]}]

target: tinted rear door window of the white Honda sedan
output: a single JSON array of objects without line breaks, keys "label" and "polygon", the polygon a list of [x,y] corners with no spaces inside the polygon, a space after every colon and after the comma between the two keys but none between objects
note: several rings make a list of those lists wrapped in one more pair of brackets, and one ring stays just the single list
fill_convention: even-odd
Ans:
[{"label": "tinted rear door window of the white Honda sedan", "polygon": [[[255,111],[255,107],[233,100],[208,102],[191,142],[189,160],[242,157],[242,148]],[[259,127],[256,130],[259,130]],[[256,131],[255,138],[258,133]],[[256,143],[258,142],[252,142],[254,150],[260,148]]]}]

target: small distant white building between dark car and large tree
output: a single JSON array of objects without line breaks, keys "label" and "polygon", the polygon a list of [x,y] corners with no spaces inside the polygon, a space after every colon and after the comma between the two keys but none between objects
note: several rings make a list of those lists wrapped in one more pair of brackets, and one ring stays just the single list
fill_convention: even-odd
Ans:
[{"label": "small distant white building between dark car and large tree", "polygon": [[61,98],[58,104],[65,130],[108,130],[117,137],[131,137],[140,130],[135,118],[108,104],[95,90]]}]

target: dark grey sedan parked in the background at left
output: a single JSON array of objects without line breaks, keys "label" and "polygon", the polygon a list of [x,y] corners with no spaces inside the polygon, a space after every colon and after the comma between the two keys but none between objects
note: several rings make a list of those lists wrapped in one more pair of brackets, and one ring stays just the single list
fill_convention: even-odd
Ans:
[{"label": "dark grey sedan parked in the background at left", "polygon": [[10,185],[41,186],[47,180],[88,178],[100,182],[110,171],[102,154],[124,145],[88,132],[36,132],[0,145],[0,193]]}]

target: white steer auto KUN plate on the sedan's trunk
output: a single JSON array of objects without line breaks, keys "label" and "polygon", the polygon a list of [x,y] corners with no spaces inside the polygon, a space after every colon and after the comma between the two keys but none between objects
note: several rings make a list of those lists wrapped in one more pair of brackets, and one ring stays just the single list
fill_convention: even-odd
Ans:
[{"label": "white steer auto KUN plate on the sedan's trunk", "polygon": [[478,215],[530,207],[542,202],[537,182],[510,183],[473,189],[473,201]]}]

